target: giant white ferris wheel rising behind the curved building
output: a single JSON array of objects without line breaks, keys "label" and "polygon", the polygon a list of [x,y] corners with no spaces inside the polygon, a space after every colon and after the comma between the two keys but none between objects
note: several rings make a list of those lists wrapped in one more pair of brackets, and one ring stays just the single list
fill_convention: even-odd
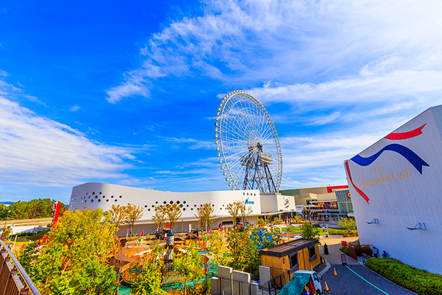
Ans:
[{"label": "giant white ferris wheel rising behind the curved building", "polygon": [[258,99],[245,91],[228,93],[215,118],[221,169],[233,190],[278,192],[282,153],[275,125]]}]

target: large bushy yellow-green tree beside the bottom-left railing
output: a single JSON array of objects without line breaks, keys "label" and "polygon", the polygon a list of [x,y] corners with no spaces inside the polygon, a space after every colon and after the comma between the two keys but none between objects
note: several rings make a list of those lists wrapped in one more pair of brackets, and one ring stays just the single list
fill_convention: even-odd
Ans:
[{"label": "large bushy yellow-green tree beside the bottom-left railing", "polygon": [[32,247],[19,259],[43,295],[112,294],[115,272],[108,265],[115,227],[100,209],[66,211],[39,254]]}]

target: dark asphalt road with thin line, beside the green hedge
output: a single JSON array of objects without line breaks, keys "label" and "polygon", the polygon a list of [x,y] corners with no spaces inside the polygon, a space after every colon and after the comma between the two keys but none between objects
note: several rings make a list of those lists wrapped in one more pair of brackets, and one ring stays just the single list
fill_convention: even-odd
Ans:
[{"label": "dark asphalt road with thin line, beside the green hedge", "polygon": [[[334,269],[336,269],[338,276],[334,276]],[[323,289],[325,289],[325,282],[327,282],[330,289],[328,294],[415,294],[398,285],[394,285],[390,280],[386,280],[363,265],[332,265],[332,267],[323,274]]]}]

